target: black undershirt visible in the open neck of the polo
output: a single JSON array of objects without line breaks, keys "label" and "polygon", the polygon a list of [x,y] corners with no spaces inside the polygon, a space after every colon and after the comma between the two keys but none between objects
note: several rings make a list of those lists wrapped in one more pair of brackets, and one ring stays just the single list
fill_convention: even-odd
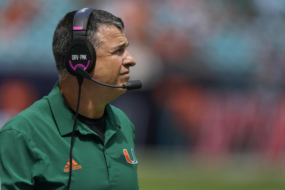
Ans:
[{"label": "black undershirt visible in the open neck of the polo", "polygon": [[[69,108],[70,109],[70,108]],[[70,109],[72,113],[75,115],[75,111]],[[77,119],[87,125],[92,131],[99,135],[102,138],[104,144],[104,134],[105,134],[105,115],[103,114],[101,118],[92,119],[85,117],[83,115],[78,114]]]}]

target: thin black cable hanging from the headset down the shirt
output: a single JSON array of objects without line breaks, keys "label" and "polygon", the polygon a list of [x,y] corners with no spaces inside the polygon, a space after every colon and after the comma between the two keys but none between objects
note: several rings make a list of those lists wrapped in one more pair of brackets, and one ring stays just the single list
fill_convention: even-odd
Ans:
[{"label": "thin black cable hanging from the headset down the shirt", "polygon": [[70,182],[71,182],[73,137],[74,137],[74,133],[75,133],[76,120],[77,120],[78,110],[79,110],[79,102],[80,102],[80,94],[81,94],[81,85],[82,85],[83,79],[84,79],[84,78],[83,78],[82,76],[80,76],[80,75],[77,75],[76,77],[77,77],[79,89],[78,89],[78,99],[77,99],[77,107],[76,107],[75,119],[74,119],[72,134],[71,134],[71,143],[70,143],[70,152],[69,152],[69,179],[68,179],[68,183],[67,183],[67,188],[66,188],[66,190],[69,190],[69,186],[70,186]]}]

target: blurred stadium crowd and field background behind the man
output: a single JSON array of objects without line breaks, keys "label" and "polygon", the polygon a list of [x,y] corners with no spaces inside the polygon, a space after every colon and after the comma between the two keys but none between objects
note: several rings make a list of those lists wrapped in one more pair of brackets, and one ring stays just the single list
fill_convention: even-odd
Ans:
[{"label": "blurred stadium crowd and field background behind the man", "polygon": [[121,17],[140,189],[285,189],[285,1],[0,0],[0,127],[58,79],[58,21]]}]

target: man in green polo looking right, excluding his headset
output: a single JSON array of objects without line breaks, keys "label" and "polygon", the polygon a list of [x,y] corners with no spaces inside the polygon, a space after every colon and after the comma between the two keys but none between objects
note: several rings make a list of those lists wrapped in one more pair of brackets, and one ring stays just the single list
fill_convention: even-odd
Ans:
[{"label": "man in green polo looking right, excluding his headset", "polygon": [[[0,130],[0,176],[3,189],[138,189],[134,126],[110,101],[126,89],[83,80],[72,160],[70,140],[77,108],[77,78],[66,70],[72,41],[73,18],[67,13],[53,36],[53,54],[59,80],[48,96],[9,120]],[[96,51],[92,78],[124,85],[129,67],[124,23],[118,17],[94,10],[86,39]],[[95,52],[94,52],[95,53]]]}]

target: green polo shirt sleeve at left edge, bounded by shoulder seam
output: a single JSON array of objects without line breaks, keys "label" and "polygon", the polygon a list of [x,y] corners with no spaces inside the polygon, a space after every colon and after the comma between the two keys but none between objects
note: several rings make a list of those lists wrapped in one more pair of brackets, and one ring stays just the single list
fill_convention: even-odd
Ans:
[{"label": "green polo shirt sleeve at left edge, bounded by shoulder seam", "polygon": [[1,190],[34,189],[40,172],[39,157],[28,137],[15,129],[1,131]]}]

